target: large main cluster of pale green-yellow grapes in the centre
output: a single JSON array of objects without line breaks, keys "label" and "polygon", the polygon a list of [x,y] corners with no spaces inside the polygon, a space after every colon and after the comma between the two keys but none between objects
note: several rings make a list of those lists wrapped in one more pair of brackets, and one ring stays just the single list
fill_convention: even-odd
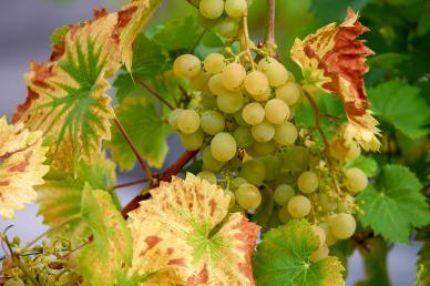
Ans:
[{"label": "large main cluster of pale green-yellow grapes in the centre", "polygon": [[262,57],[243,63],[221,53],[201,61],[183,54],[173,70],[190,80],[198,96],[195,108],[174,110],[168,123],[187,150],[201,150],[204,171],[198,176],[227,190],[234,211],[258,208],[262,191],[269,190],[281,223],[306,217],[319,224],[315,229],[324,239],[315,259],[354,234],[351,195],[366,187],[367,176],[359,168],[344,170],[341,163],[359,156],[360,149],[355,142],[348,147],[337,140],[330,143],[329,156],[342,180],[341,193],[334,191],[324,152],[294,123],[303,91],[280,62]]}]

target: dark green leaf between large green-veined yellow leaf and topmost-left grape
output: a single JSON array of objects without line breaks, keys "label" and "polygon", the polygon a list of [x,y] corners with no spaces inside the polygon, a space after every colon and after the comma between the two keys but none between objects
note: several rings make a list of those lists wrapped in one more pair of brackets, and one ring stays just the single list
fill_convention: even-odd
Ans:
[{"label": "dark green leaf between large green-veined yellow leaf and topmost-left grape", "polygon": [[132,71],[137,78],[153,78],[167,69],[170,55],[162,45],[140,34],[133,44]]}]

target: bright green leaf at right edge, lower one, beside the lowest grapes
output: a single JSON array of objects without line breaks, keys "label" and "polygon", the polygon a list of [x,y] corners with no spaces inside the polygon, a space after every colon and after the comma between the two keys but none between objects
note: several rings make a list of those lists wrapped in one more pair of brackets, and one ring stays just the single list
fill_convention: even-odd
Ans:
[{"label": "bright green leaf at right edge, lower one, beside the lowest grapes", "polygon": [[421,187],[407,167],[385,166],[375,187],[369,185],[357,197],[365,212],[360,216],[361,223],[387,241],[408,244],[414,227],[430,223],[429,206],[420,193]]}]

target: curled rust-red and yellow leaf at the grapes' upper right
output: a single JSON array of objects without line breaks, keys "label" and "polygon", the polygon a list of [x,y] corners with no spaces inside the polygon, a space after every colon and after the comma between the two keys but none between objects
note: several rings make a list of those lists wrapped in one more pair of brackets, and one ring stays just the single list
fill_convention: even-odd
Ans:
[{"label": "curled rust-red and yellow leaf at the grapes' upper right", "polygon": [[324,90],[342,101],[349,120],[346,140],[354,137],[365,150],[379,150],[378,122],[367,110],[370,103],[364,84],[369,70],[366,57],[373,52],[357,40],[366,31],[358,14],[348,9],[344,23],[330,23],[304,40],[296,39],[290,52],[301,68],[308,92]]}]

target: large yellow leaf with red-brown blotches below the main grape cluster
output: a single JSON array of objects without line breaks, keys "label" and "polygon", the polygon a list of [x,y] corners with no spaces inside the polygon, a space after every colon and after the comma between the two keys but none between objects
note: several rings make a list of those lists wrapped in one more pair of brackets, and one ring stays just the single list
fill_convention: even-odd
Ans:
[{"label": "large yellow leaf with red-brown blotches below the main grape cluster", "polygon": [[250,255],[259,226],[228,215],[222,190],[187,174],[151,194],[129,213],[132,269],[158,272],[142,285],[254,285]]}]

